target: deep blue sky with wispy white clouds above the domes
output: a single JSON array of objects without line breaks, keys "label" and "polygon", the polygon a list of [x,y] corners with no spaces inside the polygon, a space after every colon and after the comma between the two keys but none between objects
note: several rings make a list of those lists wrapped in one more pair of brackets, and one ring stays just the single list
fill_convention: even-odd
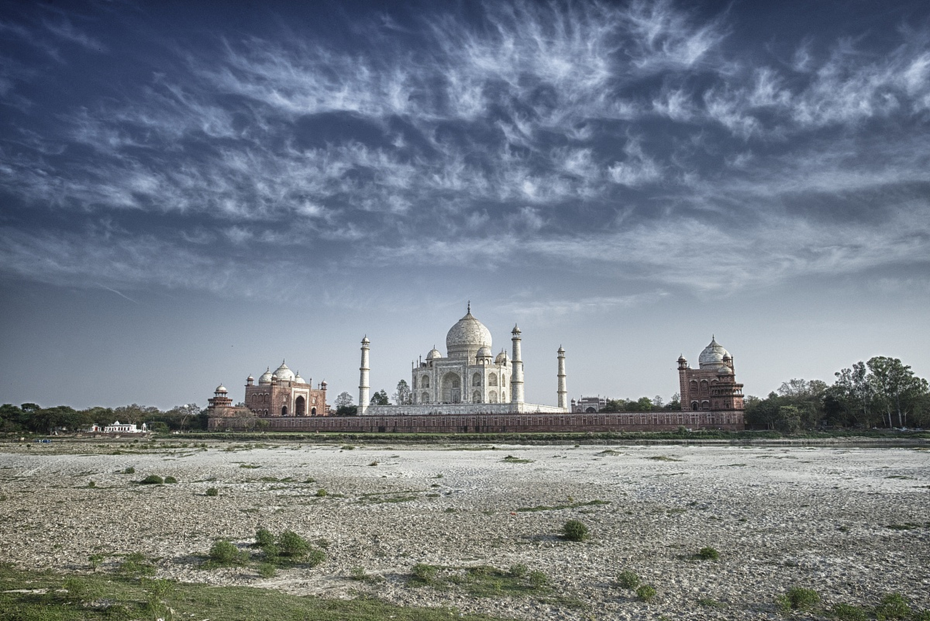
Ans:
[{"label": "deep blue sky with wispy white clouds above the domes", "polygon": [[925,2],[7,3],[4,402],[372,387],[472,311],[528,400],[930,375]]}]

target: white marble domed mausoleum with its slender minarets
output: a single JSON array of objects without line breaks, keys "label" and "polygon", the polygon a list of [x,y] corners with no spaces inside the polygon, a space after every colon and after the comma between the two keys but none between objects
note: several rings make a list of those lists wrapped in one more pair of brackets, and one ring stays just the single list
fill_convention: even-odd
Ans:
[{"label": "white marble domed mausoleum with its slender minarets", "polygon": [[445,335],[446,355],[433,346],[426,360],[414,362],[410,377],[413,403],[368,405],[369,347],[362,340],[359,382],[359,414],[474,414],[512,412],[568,412],[565,402],[565,350],[559,347],[556,390],[558,406],[524,402],[524,370],[521,331],[513,326],[512,353],[492,354],[491,332],[468,312]]}]

